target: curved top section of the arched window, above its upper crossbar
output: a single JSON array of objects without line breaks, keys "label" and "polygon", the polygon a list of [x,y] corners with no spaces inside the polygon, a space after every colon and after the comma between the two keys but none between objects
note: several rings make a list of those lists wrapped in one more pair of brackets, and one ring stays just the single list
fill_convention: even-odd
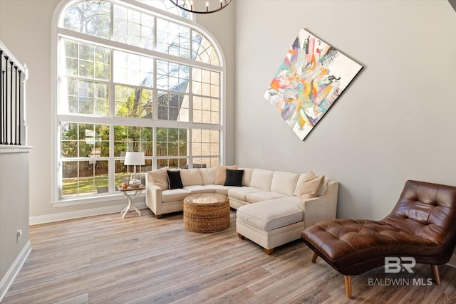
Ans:
[{"label": "curved top section of the arched window, above its upper crossbar", "polygon": [[[167,0],[137,0],[155,9],[190,19],[189,14]],[[219,54],[209,38],[177,20],[121,1],[85,0],[66,6],[60,28],[108,39],[128,46],[167,53],[200,63],[220,66]]]}]

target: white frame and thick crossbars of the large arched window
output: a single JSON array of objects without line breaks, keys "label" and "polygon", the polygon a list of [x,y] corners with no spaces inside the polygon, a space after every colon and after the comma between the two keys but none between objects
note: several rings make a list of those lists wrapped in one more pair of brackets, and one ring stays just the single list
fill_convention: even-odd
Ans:
[{"label": "white frame and thick crossbars of the large arched window", "polygon": [[[158,159],[163,159],[163,158],[171,158],[171,157],[162,157],[162,156],[157,156],[157,128],[177,128],[177,129],[182,129],[186,128],[189,132],[189,138],[187,139],[187,142],[189,142],[189,153],[186,156],[188,159],[188,163],[190,164],[190,167],[192,167],[192,162],[193,162],[193,156],[192,156],[192,130],[217,130],[219,132],[219,164],[224,164],[225,161],[225,154],[226,154],[226,145],[225,145],[225,133],[226,133],[226,126],[225,126],[225,98],[226,98],[226,93],[225,93],[225,79],[226,79],[226,71],[225,71],[225,61],[224,61],[224,55],[222,53],[222,48],[220,48],[219,44],[217,41],[212,37],[212,35],[202,28],[202,26],[199,26],[195,22],[195,16],[192,16],[190,14],[190,19],[186,19],[181,16],[177,16],[175,14],[171,14],[167,11],[161,11],[160,9],[155,9],[154,7],[147,6],[147,4],[143,4],[142,2],[136,2],[136,1],[130,1],[130,0],[125,0],[125,1],[120,1],[120,0],[107,0],[108,2],[111,3],[111,20],[113,18],[113,5],[114,4],[120,4],[122,6],[127,6],[129,8],[134,8],[137,9],[138,11],[142,12],[147,12],[149,14],[152,14],[155,16],[155,34],[157,33],[157,18],[160,19],[166,19],[168,21],[172,21],[175,23],[179,23],[183,26],[187,26],[190,28],[190,53],[192,53],[192,36],[193,36],[193,31],[197,31],[198,33],[201,33],[209,43],[212,43],[212,46],[214,47],[214,51],[217,52],[217,55],[219,57],[219,66],[216,65],[211,65],[208,63],[202,63],[199,61],[194,61],[191,58],[180,58],[178,56],[172,56],[167,53],[161,53],[158,51],[152,51],[146,48],[140,48],[137,46],[127,46],[123,43],[119,43],[117,41],[114,41],[112,39],[113,32],[113,24],[111,24],[111,37],[110,39],[105,39],[105,38],[99,38],[96,36],[91,36],[86,33],[80,33],[76,31],[71,31],[66,28],[61,28],[60,27],[60,21],[62,19],[62,14],[68,9],[69,6],[73,6],[77,4],[78,2],[81,2],[81,0],[73,0],[73,1],[60,1],[58,5],[56,6],[56,10],[54,11],[53,14],[53,21],[52,21],[52,41],[51,41],[51,70],[52,70],[52,75],[51,75],[51,85],[52,85],[52,90],[51,90],[51,98],[53,102],[53,106],[51,107],[51,122],[52,122],[52,134],[51,136],[51,142],[52,142],[52,164],[51,164],[51,179],[52,179],[52,201],[51,203],[53,206],[71,206],[71,205],[76,205],[76,204],[92,204],[96,202],[105,202],[108,199],[109,200],[117,200],[117,199],[123,199],[123,195],[120,192],[115,192],[115,181],[113,180],[115,178],[113,172],[115,170],[115,162],[118,161],[118,159],[122,159],[122,157],[115,157],[113,153],[113,145],[114,145],[114,133],[113,133],[113,127],[114,125],[130,125],[130,126],[135,126],[135,127],[152,127],[153,130],[153,155],[152,157],[146,157],[146,159],[151,159],[152,161],[152,169],[157,169],[157,160]],[[156,35],[155,35],[156,37]],[[58,111],[58,98],[59,98],[59,77],[61,75],[61,68],[59,60],[60,60],[60,48],[61,48],[61,43],[59,42],[61,39],[70,39],[74,41],[81,41],[84,43],[90,43],[92,45],[98,45],[98,46],[103,46],[110,48],[110,80],[108,81],[109,83],[109,97],[108,97],[108,104],[109,104],[109,114],[108,117],[96,117],[94,120],[93,117],[90,116],[85,116],[85,115],[72,115],[72,114],[59,114]],[[156,39],[154,38],[154,43],[156,46]],[[160,90],[157,88],[156,84],[156,74],[154,73],[154,88],[151,88],[153,90],[154,94],[154,102],[153,102],[153,110],[152,110],[152,119],[144,119],[144,118],[127,118],[125,119],[124,117],[115,117],[114,115],[114,106],[115,106],[115,101],[114,101],[114,86],[119,85],[119,83],[115,83],[113,79],[113,51],[114,50],[120,50],[120,51],[127,51],[131,53],[136,53],[138,55],[142,56],[147,56],[149,58],[152,58],[154,61],[154,72],[157,70],[157,61],[167,61],[170,63],[177,63],[177,64],[184,64],[188,65],[190,67],[190,70],[192,68],[199,68],[199,69],[204,69],[204,70],[210,70],[219,73],[219,124],[214,125],[214,124],[204,124],[201,122],[192,122],[192,100],[195,96],[199,95],[194,95],[192,93],[192,73],[189,73],[189,93],[188,93],[188,99],[189,99],[189,122],[177,122],[177,121],[172,121],[172,120],[158,120],[158,103],[157,103],[157,91]],[[75,117],[77,117],[77,121],[75,120]],[[69,196],[69,197],[63,197],[61,196],[61,189],[62,189],[62,162],[61,162],[61,147],[60,147],[60,142],[61,142],[61,130],[60,130],[60,122],[74,122],[74,123],[93,123],[93,124],[108,124],[110,125],[110,156],[109,157],[103,157],[103,159],[100,160],[108,160],[108,167],[110,170],[110,173],[108,174],[108,179],[109,179],[109,192],[108,194],[87,194],[83,196]],[[197,158],[201,158],[201,156],[197,156]],[[83,159],[83,160],[90,160],[88,159]],[[81,160],[80,160],[81,161]],[[147,160],[146,160],[147,162]],[[113,172],[113,173],[111,173]]]}]

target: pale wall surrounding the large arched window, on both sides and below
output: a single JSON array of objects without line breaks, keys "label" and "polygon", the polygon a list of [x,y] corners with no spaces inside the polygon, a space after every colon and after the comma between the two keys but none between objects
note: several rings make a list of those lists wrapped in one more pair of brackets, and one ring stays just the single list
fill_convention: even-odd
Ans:
[{"label": "pale wall surrounding the large arched window, on both sides and below", "polygon": [[[126,201],[53,207],[51,204],[51,20],[58,0],[0,0],[0,40],[27,64],[27,124],[30,155],[30,216],[43,221],[119,210]],[[224,48],[227,58],[227,163],[234,162],[234,5],[201,22]],[[229,26],[225,26],[229,24]],[[225,51],[226,48],[226,51]],[[143,199],[142,199],[143,200]],[[89,209],[87,212],[81,212]],[[90,211],[90,209],[98,211]],[[54,214],[54,216],[53,216]],[[58,214],[58,216],[56,215]]]}]

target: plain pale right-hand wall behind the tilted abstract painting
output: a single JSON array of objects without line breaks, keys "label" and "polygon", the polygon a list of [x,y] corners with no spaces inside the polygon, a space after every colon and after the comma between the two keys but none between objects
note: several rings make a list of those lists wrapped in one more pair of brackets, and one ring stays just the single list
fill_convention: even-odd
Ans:
[{"label": "plain pale right-hand wall behind the tilted abstract painting", "polygon": [[[363,65],[303,142],[263,98],[300,28]],[[456,186],[455,28],[447,0],[237,1],[237,164],[326,174],[338,217],[382,219],[407,179]]]}]

